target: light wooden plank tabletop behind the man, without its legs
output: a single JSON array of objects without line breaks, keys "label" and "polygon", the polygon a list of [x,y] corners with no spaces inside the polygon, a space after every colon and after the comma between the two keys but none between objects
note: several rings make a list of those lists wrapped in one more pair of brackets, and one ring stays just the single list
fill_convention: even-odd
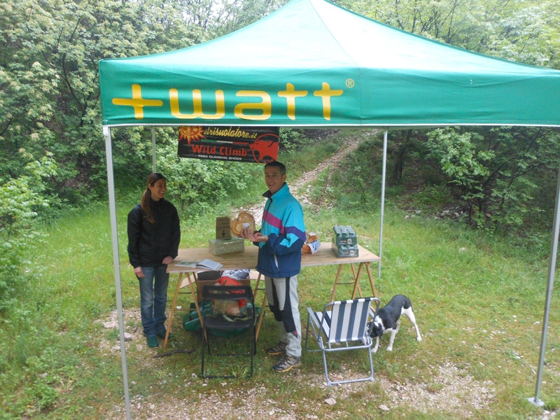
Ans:
[{"label": "light wooden plank tabletop behind the man, without its legs", "polygon": [[[253,244],[245,246],[244,252],[236,252],[222,255],[212,255],[208,248],[179,249],[179,255],[172,264],[167,266],[168,273],[186,273],[203,271],[200,267],[177,267],[179,261],[202,261],[205,258],[221,262],[221,269],[253,269],[257,266],[258,246]],[[358,257],[338,258],[332,251],[330,242],[321,242],[321,246],[314,254],[302,255],[302,267],[313,267],[315,265],[339,265],[360,262],[379,261],[380,258],[374,253],[358,245]]]}]

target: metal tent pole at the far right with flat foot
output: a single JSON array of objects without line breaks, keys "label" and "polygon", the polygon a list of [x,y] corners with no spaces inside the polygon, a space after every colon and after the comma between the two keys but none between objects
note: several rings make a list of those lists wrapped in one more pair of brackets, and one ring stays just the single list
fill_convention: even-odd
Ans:
[{"label": "metal tent pole at the far right with flat foot", "polygon": [[542,320],[542,334],[540,337],[540,356],[538,358],[537,384],[535,386],[535,396],[527,398],[531,404],[542,407],[545,402],[540,400],[540,385],[542,384],[542,367],[545,365],[545,351],[547,346],[548,317],[550,314],[550,300],[552,298],[552,288],[554,288],[554,272],[556,271],[556,255],[558,254],[558,239],[560,232],[560,170],[556,180],[556,204],[554,207],[554,232],[552,233],[552,248],[548,262],[548,281],[547,297],[545,300],[545,315]]}]

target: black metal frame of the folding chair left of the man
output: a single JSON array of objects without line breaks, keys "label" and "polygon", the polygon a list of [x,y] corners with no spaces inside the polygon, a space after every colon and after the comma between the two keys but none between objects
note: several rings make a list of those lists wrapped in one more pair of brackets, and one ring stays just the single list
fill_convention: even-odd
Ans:
[{"label": "black metal frame of the folding chair left of the man", "polygon": [[[209,336],[211,332],[209,329],[216,330],[238,330],[241,328],[247,328],[251,333],[251,347],[248,355],[251,357],[251,371],[247,377],[253,376],[253,356],[256,354],[256,339],[255,339],[255,301],[253,298],[253,290],[251,286],[204,286],[202,288],[202,307],[207,301],[212,300],[225,300],[225,301],[239,301],[242,299],[248,300],[247,311],[248,318],[233,318],[233,321],[226,319],[222,314],[214,316],[211,311],[204,311],[203,314],[203,332],[202,335],[202,377],[204,378],[238,378],[236,375],[207,375],[204,373],[204,352],[208,349],[209,355],[211,355],[210,350],[210,340]],[[240,354],[240,353],[239,353]],[[239,356],[238,353],[217,355],[215,356]],[[243,353],[247,354],[247,353]]]}]

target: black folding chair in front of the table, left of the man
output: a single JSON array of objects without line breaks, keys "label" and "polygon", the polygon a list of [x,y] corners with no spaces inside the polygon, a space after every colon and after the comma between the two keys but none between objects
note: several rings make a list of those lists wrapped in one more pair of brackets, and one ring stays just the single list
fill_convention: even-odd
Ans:
[{"label": "black folding chair in front of the table, left of the man", "polygon": [[[237,315],[232,315],[226,309],[228,307],[238,307],[238,302],[246,302],[246,305]],[[255,343],[255,302],[253,300],[253,290],[251,286],[204,286],[202,288],[202,307],[211,307],[211,310],[204,311],[202,316],[203,325],[203,345],[202,345],[202,377],[205,378],[236,378],[237,374],[207,374],[205,363],[205,352],[208,351],[209,356],[213,358],[219,356],[249,356],[251,362],[250,372],[246,377],[253,375],[253,356],[256,353]],[[221,308],[221,309],[219,309]],[[246,337],[248,336],[248,342]],[[214,342],[221,342],[227,339],[227,345],[221,345],[219,348],[214,346],[211,350],[210,337]],[[237,342],[237,343],[234,343]],[[246,341],[245,348],[248,351],[227,353],[225,349],[233,347],[235,344],[243,344]],[[231,343],[230,343],[231,342]],[[232,344],[232,345],[229,345]],[[244,347],[244,346],[241,346]],[[232,367],[233,363],[227,363]]]}]

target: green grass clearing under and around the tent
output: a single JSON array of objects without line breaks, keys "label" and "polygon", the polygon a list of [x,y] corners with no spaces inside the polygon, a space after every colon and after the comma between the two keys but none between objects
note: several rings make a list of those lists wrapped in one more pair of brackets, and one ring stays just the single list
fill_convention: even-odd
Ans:
[{"label": "green grass clearing under and around the tent", "polygon": [[[262,184],[255,183],[255,190],[260,192]],[[125,252],[126,216],[133,204],[122,202],[118,206],[126,314],[137,313],[139,306],[137,280]],[[182,215],[181,247],[205,246],[214,232],[214,218],[222,212],[223,208],[217,209],[216,214],[200,218]],[[360,244],[378,253],[378,209],[344,213],[307,209],[305,218],[308,230],[318,232],[322,241],[330,240],[333,225],[351,225]],[[4,344],[0,350],[0,406],[4,407],[0,419],[123,418],[115,414],[124,407],[120,351],[111,349],[118,345],[118,332],[103,326],[116,308],[109,209],[92,205],[46,230],[48,245],[34,255],[34,265],[28,267],[27,290],[23,290],[18,306],[0,319]],[[232,393],[238,395],[233,405],[239,412],[221,412],[225,419],[262,416],[256,410],[245,411],[244,393],[253,395],[262,407],[279,410],[276,415],[284,412],[298,419],[374,419],[378,415],[384,419],[527,419],[542,413],[526,398],[535,392],[548,268],[545,258],[536,258],[505,239],[450,222],[405,218],[404,213],[389,207],[383,257],[381,278],[375,277],[381,303],[397,293],[408,295],[423,341],[416,342],[412,325],[403,319],[394,351],[386,351],[388,337],[384,337],[374,355],[374,383],[325,388],[320,354],[305,351],[302,367],[274,374],[271,367],[276,358],[262,351],[277,341],[269,312],[260,332],[251,379],[201,379],[202,337],[200,332],[181,328],[190,304],[189,295],[181,295],[178,304],[182,309],[173,320],[176,338],[168,349],[148,350],[141,334],[127,344],[133,418],[143,418],[139,406],[155,404],[165,409],[170,400],[188,400],[188,415],[195,418],[199,405],[232,398]],[[376,275],[377,266],[372,271]],[[335,272],[334,266],[302,270],[303,328],[305,308],[321,309],[328,302]],[[343,276],[349,278],[349,271],[344,270]],[[175,283],[176,277],[172,277],[169,300]],[[365,277],[361,286],[368,290]],[[339,286],[337,297],[349,297],[350,293],[350,286]],[[560,405],[558,301],[559,293],[554,290],[540,395],[547,409]],[[125,326],[141,331],[138,316],[125,316]],[[175,349],[195,352],[153,358]],[[366,357],[337,355],[330,360],[330,370],[362,372],[367,367]],[[485,398],[482,407],[470,406],[472,395],[465,388],[451,392],[458,398],[458,408],[395,403],[395,395],[403,393],[395,391],[400,387],[409,393],[425,389],[426,395],[443,404],[450,391],[440,372],[449,370],[455,381],[474,383],[475,391],[488,388],[491,398]],[[325,404],[329,397],[337,400],[335,406]],[[390,411],[379,414],[380,405]],[[175,414],[170,412],[169,417]]]}]

